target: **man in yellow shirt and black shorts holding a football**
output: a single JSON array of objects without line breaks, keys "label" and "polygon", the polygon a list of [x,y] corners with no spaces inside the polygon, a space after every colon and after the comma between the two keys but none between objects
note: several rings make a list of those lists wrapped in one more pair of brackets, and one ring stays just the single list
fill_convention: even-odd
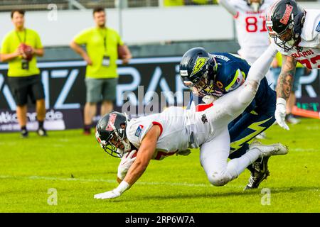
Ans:
[{"label": "man in yellow shirt and black shorts holding a football", "polygon": [[9,62],[8,84],[16,101],[16,116],[21,127],[21,137],[28,137],[28,96],[36,103],[38,135],[46,136],[43,122],[46,118],[46,103],[36,56],[43,56],[41,39],[36,31],[25,28],[25,11],[11,11],[14,31],[6,34],[1,45],[1,62]]}]

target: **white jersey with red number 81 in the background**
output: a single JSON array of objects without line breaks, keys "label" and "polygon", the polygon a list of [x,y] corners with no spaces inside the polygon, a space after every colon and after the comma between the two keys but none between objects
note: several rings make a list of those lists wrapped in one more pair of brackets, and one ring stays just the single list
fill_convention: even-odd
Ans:
[{"label": "white jersey with red number 81 in the background", "polygon": [[238,54],[252,64],[270,45],[265,14],[274,0],[265,0],[259,11],[253,11],[245,0],[230,0],[237,10],[235,26],[240,50]]}]

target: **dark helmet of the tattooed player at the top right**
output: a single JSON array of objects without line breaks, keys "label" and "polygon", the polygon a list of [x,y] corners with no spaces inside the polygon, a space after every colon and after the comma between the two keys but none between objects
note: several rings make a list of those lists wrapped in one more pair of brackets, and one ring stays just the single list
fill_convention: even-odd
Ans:
[{"label": "dark helmet of the tattooed player at the top right", "polygon": [[270,37],[284,51],[300,42],[306,12],[294,0],[279,0],[270,7],[266,25]]}]

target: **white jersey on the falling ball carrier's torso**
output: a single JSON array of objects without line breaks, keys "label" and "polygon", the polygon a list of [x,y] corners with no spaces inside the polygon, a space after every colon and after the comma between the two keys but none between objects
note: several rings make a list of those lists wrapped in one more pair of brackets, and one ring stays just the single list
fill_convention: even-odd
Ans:
[{"label": "white jersey on the falling ball carrier's torso", "polygon": [[[208,107],[210,106],[213,104]],[[206,116],[199,117],[196,112],[198,111],[171,106],[160,114],[134,118],[127,123],[127,138],[139,149],[144,135],[152,126],[158,125],[161,134],[156,142],[156,151],[152,157],[154,160],[183,153],[188,148],[198,148],[213,136],[213,130]]]}]

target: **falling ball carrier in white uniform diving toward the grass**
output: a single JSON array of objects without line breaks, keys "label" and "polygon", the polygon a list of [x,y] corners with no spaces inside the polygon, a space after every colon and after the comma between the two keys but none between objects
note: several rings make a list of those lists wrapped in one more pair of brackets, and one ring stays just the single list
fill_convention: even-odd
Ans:
[{"label": "falling ball carrier in white uniform diving toward the grass", "polygon": [[160,114],[131,121],[118,112],[105,115],[96,128],[96,138],[102,148],[111,155],[120,156],[128,152],[131,155],[132,150],[139,150],[119,186],[109,192],[95,194],[95,199],[120,196],[137,182],[152,158],[161,159],[174,153],[188,153],[189,148],[200,148],[201,165],[208,180],[215,186],[222,186],[235,179],[259,157],[287,154],[287,148],[280,143],[251,143],[245,155],[228,162],[228,123],[239,116],[255,98],[260,81],[265,77],[276,53],[277,50],[270,45],[250,67],[245,83],[213,104],[208,104],[203,111],[173,106]]}]

